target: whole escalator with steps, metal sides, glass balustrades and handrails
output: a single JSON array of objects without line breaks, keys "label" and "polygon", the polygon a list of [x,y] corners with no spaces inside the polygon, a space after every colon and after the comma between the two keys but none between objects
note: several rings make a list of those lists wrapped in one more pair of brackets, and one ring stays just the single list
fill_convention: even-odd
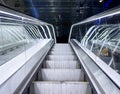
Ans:
[{"label": "whole escalator with steps, metal sides, glass balustrades and handrails", "polygon": [[0,6],[0,94],[120,94],[120,24],[89,23],[104,15],[56,44],[53,25]]}]

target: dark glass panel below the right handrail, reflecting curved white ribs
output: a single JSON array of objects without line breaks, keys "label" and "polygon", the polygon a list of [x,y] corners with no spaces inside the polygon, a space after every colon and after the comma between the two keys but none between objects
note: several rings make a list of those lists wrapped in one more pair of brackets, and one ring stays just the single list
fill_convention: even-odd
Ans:
[{"label": "dark glass panel below the right handrail, reflecting curved white ribs", "polygon": [[92,19],[90,22],[88,19],[74,25],[71,39],[77,39],[82,46],[120,73],[120,65],[116,63],[119,62],[120,14]]}]

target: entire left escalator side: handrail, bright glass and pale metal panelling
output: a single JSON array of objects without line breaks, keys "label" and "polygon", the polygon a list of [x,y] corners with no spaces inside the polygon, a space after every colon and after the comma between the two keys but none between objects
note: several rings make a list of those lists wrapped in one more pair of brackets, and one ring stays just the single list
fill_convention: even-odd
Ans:
[{"label": "entire left escalator side: handrail, bright glass and pale metal panelling", "polygon": [[0,6],[0,93],[24,91],[54,43],[52,24]]}]

